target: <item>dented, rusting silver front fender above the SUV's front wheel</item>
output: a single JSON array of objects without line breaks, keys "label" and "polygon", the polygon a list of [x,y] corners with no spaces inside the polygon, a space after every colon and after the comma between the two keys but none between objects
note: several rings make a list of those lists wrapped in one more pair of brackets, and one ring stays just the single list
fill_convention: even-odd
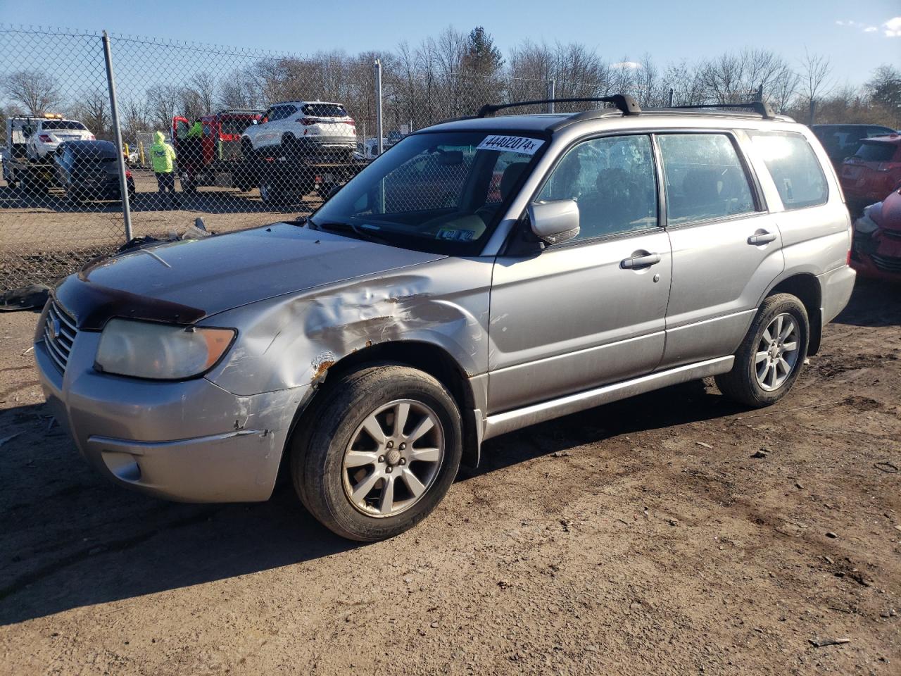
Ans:
[{"label": "dented, rusting silver front fender above the SUV's front wheel", "polygon": [[404,341],[440,347],[469,377],[485,373],[492,264],[434,260],[212,315],[200,324],[239,333],[206,377],[239,395],[296,388],[353,352]]}]

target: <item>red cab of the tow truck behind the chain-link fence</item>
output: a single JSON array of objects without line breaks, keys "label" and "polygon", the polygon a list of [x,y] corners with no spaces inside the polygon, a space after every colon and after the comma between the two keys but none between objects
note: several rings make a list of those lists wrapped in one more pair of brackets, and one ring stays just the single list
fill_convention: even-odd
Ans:
[{"label": "red cab of the tow truck behind the chain-link fence", "polygon": [[223,185],[216,182],[217,174],[228,174],[229,183],[239,190],[255,186],[253,178],[245,171],[241,156],[241,132],[254,120],[260,119],[261,110],[227,109],[202,115],[203,136],[199,142],[189,139],[187,132],[194,123],[187,117],[172,118],[172,142],[178,159],[178,172],[182,187],[190,192],[197,186]]}]

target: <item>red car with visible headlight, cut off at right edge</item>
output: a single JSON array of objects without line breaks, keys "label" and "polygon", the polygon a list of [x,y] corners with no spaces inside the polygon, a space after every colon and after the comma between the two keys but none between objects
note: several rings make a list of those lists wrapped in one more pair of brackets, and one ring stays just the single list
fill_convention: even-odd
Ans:
[{"label": "red car with visible headlight, cut off at right edge", "polygon": [[864,277],[901,281],[901,189],[854,222],[851,267]]}]

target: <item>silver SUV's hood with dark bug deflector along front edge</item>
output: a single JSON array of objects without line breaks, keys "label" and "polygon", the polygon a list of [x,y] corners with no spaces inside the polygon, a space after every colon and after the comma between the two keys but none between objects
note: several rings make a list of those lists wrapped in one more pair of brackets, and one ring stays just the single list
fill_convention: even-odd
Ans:
[{"label": "silver SUV's hood with dark bug deflector along front edge", "polygon": [[102,328],[111,316],[192,324],[266,298],[441,258],[278,223],[100,260],[65,279],[55,295],[79,328]]}]

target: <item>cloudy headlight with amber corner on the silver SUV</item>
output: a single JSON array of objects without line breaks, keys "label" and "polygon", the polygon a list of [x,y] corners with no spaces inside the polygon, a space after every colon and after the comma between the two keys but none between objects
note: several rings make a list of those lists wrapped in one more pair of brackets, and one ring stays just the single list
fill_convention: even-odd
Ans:
[{"label": "cloudy headlight with amber corner on the silver SUV", "polygon": [[234,329],[111,319],[100,335],[95,368],[135,378],[191,378],[219,361],[235,333]]}]

